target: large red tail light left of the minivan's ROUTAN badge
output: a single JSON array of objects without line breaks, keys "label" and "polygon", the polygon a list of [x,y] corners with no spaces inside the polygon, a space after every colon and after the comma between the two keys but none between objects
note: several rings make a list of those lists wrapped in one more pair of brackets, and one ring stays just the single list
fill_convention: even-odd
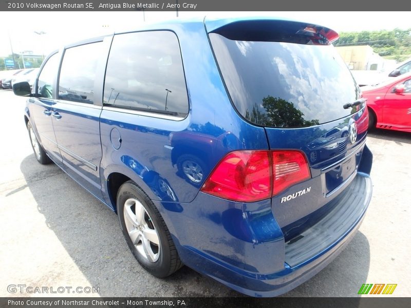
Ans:
[{"label": "large red tail light left of the minivan's ROUTAN badge", "polygon": [[218,163],[201,191],[232,201],[255,202],[308,178],[307,159],[300,151],[234,151]]}]

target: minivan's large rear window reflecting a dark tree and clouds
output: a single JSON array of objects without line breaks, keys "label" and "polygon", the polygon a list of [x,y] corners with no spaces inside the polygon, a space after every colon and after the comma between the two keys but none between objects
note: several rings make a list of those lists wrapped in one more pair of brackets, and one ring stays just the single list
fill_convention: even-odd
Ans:
[{"label": "minivan's large rear window reflecting a dark tree and clouds", "polygon": [[[252,38],[252,37],[251,37]],[[360,98],[350,71],[332,45],[210,41],[231,99],[242,117],[269,127],[306,127],[346,117]],[[286,41],[286,42],[284,42]]]}]

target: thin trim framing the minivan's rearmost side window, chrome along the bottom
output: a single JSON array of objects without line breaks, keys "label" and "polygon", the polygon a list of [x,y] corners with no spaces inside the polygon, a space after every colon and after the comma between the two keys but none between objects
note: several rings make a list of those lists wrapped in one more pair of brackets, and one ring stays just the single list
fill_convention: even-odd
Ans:
[{"label": "thin trim framing the minivan's rearmost side window, chrome along the bottom", "polygon": [[[104,88],[105,88],[105,81],[106,81],[106,74],[107,74],[107,66],[108,66],[108,60],[110,57],[110,52],[111,52],[111,46],[113,46],[113,41],[114,37],[116,35],[123,35],[123,34],[132,34],[132,33],[145,33],[145,32],[172,32],[176,38],[177,38],[177,44],[178,44],[178,49],[180,51],[180,59],[181,59],[181,67],[183,70],[183,78],[184,78],[184,84],[185,84],[185,91],[187,94],[187,104],[188,104],[188,109],[187,113],[185,114],[184,117],[180,117],[178,115],[170,115],[167,114],[166,112],[161,112],[159,111],[150,111],[149,109],[146,109],[146,111],[140,110],[139,108],[136,107],[129,107],[129,106],[121,106],[121,105],[112,105],[112,104],[107,104],[104,103]],[[191,103],[190,103],[190,95],[189,95],[189,89],[187,86],[187,80],[185,78],[185,68],[184,68],[184,62],[183,62],[183,56],[181,52],[181,45],[180,45],[180,40],[178,38],[177,33],[174,30],[171,29],[153,29],[153,30],[138,30],[138,31],[126,31],[126,32],[120,32],[120,33],[115,33],[114,35],[111,35],[111,42],[110,42],[110,48],[107,53],[107,58],[106,58],[106,63],[105,63],[105,69],[104,69],[104,79],[103,79],[103,89],[102,89],[102,106],[103,110],[110,110],[110,111],[117,111],[117,112],[124,112],[124,113],[130,113],[130,114],[137,114],[137,115],[142,115],[144,117],[152,117],[152,118],[157,118],[157,119],[166,119],[166,120],[173,120],[173,121],[182,121],[186,119],[189,114],[190,114],[190,109],[191,109]]]}]

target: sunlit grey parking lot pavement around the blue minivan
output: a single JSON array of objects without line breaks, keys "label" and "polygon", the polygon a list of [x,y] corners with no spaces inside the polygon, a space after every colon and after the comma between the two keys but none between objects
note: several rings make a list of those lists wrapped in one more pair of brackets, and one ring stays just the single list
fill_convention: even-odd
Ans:
[{"label": "sunlit grey parking lot pavement around the blue minivan", "polygon": [[[25,99],[0,90],[0,105],[0,296],[241,296],[185,266],[166,279],[145,272],[117,215],[57,166],[35,160]],[[367,144],[373,196],[359,232],[322,272],[283,296],[354,297],[363,283],[396,283],[391,296],[410,296],[411,133],[375,130]],[[10,284],[98,292],[9,293]]]}]

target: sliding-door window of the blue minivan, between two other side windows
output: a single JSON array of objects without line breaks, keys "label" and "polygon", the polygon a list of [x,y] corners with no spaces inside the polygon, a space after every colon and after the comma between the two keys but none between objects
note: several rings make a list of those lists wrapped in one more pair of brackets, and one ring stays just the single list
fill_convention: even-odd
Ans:
[{"label": "sliding-door window of the blue minivan, between two other side windows", "polygon": [[101,43],[66,49],[60,71],[59,99],[92,104]]}]

